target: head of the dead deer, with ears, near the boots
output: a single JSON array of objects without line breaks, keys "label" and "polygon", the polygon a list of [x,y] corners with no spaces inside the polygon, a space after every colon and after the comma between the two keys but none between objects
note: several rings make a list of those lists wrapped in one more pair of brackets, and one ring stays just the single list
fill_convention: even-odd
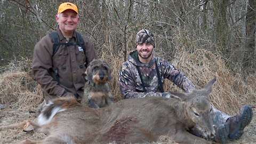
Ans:
[{"label": "head of the dead deer, with ears, near the boots", "polygon": [[186,113],[190,121],[199,125],[204,130],[204,137],[213,139],[215,131],[213,128],[214,113],[210,103],[210,93],[216,78],[212,79],[201,90],[194,90],[189,93],[173,93],[170,96],[186,103]]}]

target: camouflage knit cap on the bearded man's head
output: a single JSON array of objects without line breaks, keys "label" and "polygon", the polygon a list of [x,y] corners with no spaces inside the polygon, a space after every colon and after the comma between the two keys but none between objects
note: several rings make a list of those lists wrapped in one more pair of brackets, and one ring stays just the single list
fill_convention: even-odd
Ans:
[{"label": "camouflage knit cap on the bearded man's head", "polygon": [[135,39],[135,44],[141,44],[141,43],[150,43],[155,47],[155,38],[154,35],[151,33],[151,31],[147,29],[141,29]]}]

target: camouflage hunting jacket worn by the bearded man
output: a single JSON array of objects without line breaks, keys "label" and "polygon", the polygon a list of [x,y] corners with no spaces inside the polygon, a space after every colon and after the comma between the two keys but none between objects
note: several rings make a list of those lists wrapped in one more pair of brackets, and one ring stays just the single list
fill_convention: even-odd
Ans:
[{"label": "camouflage hunting jacket worn by the bearded man", "polygon": [[[153,55],[152,60],[148,64],[144,64],[139,61],[138,52],[135,50],[130,52],[128,60],[121,65],[119,71],[119,87],[124,99],[164,96],[167,94],[161,93],[155,61],[163,84],[164,78],[167,78],[185,92],[195,89],[194,84],[168,61]],[[136,66],[140,68],[146,92],[143,91]]]}]

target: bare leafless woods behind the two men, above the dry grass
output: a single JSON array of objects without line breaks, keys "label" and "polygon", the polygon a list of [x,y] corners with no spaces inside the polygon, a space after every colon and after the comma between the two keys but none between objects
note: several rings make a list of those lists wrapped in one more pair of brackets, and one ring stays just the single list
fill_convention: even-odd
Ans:
[{"label": "bare leafless woods behind the two men, above the dry grass", "polygon": [[[52,31],[64,1],[2,0],[0,63],[31,58],[36,42]],[[65,1],[66,2],[66,1]],[[134,35],[148,28],[156,35],[157,52],[173,59],[177,50],[219,52],[234,70],[255,73],[256,1],[244,0],[78,0],[78,31],[93,41],[98,54],[126,59]],[[164,51],[164,53],[162,53]]]}]

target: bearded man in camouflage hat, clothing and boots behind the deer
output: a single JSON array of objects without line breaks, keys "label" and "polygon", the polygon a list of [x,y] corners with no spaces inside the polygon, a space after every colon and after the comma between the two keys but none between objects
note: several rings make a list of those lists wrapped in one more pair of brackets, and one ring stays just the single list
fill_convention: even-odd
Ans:
[{"label": "bearded man in camouflage hat, clothing and boots behind the deer", "polygon": [[[135,45],[136,50],[130,52],[128,60],[121,65],[119,71],[119,86],[124,99],[157,96],[169,98],[168,93],[161,89],[164,78],[169,79],[185,92],[195,89],[194,84],[185,74],[175,69],[168,61],[153,55],[155,39],[151,31],[140,30],[136,35]],[[161,82],[158,81],[157,71],[159,71]],[[216,132],[215,141],[220,143],[226,143],[227,139],[239,139],[243,134],[244,127],[252,119],[250,106],[243,106],[233,117],[214,107],[213,110],[215,113],[213,120]],[[203,130],[199,126],[191,127],[189,131],[203,138]]]}]

